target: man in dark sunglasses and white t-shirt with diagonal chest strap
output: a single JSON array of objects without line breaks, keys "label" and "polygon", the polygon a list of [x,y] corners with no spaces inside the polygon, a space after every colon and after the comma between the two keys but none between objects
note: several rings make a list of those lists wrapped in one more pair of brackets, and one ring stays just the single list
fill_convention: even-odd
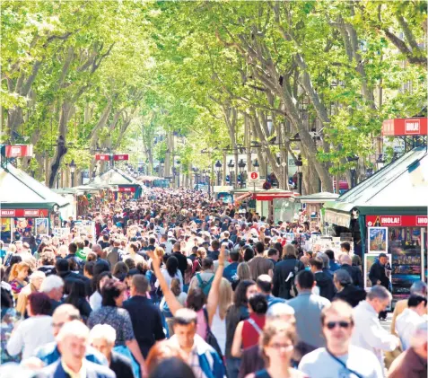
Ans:
[{"label": "man in dark sunglasses and white t-shirt with diagonal chest strap", "polygon": [[299,370],[317,378],[382,378],[380,362],[371,351],[351,345],[354,330],[353,309],[335,301],[321,312],[326,347],[319,347],[301,358]]}]

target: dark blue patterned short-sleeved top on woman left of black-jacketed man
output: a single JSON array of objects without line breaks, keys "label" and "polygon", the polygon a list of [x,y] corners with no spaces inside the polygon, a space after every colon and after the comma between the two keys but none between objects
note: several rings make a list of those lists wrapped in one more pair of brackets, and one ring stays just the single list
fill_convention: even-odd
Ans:
[{"label": "dark blue patterned short-sleeved top on woman left of black-jacketed man", "polygon": [[87,325],[92,329],[97,324],[109,324],[116,330],[115,346],[123,346],[126,341],[135,338],[131,317],[125,309],[103,306],[99,310],[92,311]]}]

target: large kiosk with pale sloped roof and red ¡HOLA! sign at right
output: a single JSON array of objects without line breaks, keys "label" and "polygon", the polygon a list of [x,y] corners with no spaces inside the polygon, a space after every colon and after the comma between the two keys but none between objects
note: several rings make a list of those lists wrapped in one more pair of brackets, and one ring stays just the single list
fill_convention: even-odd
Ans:
[{"label": "large kiosk with pale sloped roof and red \u00a1HOLA! sign at right", "polygon": [[366,288],[371,264],[389,254],[392,294],[397,301],[427,277],[428,152],[415,147],[325,205],[325,221],[361,242]]}]

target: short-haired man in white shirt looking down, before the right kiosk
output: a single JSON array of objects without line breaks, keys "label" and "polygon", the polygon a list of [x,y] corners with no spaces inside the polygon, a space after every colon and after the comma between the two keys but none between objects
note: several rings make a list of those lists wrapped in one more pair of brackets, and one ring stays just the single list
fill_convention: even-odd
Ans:
[{"label": "short-haired man in white shirt looking down, before the right kiosk", "polygon": [[380,325],[379,312],[385,311],[392,296],[380,285],[372,286],[365,301],[354,308],[354,334],[352,345],[371,350],[384,367],[384,352],[392,351],[399,345],[399,339],[388,333]]}]

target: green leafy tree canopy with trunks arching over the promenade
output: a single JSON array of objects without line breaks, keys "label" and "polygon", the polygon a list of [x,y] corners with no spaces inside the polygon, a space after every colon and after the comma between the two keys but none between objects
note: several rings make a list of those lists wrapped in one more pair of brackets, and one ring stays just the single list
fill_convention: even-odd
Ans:
[{"label": "green leafy tree canopy with trunks arching over the promenade", "polygon": [[283,188],[300,154],[305,191],[332,190],[371,167],[382,120],[426,109],[422,1],[1,6],[2,139],[31,141],[44,160],[23,168],[50,186],[71,159],[92,170],[136,144],[151,170],[257,153]]}]

